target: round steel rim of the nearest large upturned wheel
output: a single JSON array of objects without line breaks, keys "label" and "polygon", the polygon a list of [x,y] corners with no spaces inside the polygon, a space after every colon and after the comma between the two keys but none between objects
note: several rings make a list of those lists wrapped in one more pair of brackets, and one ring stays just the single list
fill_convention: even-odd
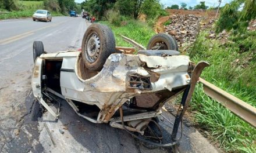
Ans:
[{"label": "round steel rim of the nearest large upturned wheel", "polygon": [[85,56],[87,61],[90,63],[94,63],[99,57],[99,52],[101,48],[101,42],[99,40],[98,34],[96,32],[92,32],[86,40],[85,44]]}]

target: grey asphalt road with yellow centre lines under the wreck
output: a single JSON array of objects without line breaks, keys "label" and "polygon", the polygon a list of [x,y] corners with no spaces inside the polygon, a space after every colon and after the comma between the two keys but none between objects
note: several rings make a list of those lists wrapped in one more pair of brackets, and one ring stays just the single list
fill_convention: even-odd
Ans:
[{"label": "grey asphalt road with yellow centre lines under the wreck", "polygon": [[[88,25],[81,17],[53,17],[48,23],[31,19],[0,21],[0,152],[171,152],[170,148],[149,150],[125,130],[88,122],[77,116],[65,101],[61,103],[57,121],[48,112],[38,122],[31,121],[33,41],[42,41],[47,52],[81,48]],[[164,115],[173,122],[169,113]],[[161,126],[169,139],[170,123],[163,119]],[[184,126],[179,150],[218,152],[189,126]]]}]

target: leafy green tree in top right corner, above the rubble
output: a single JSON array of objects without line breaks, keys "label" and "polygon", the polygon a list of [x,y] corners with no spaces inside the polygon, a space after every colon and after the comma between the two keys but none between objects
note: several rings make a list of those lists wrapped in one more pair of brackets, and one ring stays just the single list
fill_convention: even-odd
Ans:
[{"label": "leafy green tree in top right corner, above the rubble", "polygon": [[[241,6],[243,6],[243,9],[241,9]],[[227,3],[221,10],[219,19],[215,23],[215,31],[222,32],[223,30],[230,31],[233,29],[243,33],[250,21],[255,18],[256,0],[234,0]]]}]

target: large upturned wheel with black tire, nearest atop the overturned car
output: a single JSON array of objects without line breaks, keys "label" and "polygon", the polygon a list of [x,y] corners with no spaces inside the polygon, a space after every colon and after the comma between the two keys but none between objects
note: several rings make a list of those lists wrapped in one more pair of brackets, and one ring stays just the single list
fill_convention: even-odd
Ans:
[{"label": "large upturned wheel with black tire, nearest atop the overturned car", "polygon": [[84,65],[92,71],[100,71],[108,56],[115,52],[115,38],[111,28],[91,24],[84,33],[81,46]]}]

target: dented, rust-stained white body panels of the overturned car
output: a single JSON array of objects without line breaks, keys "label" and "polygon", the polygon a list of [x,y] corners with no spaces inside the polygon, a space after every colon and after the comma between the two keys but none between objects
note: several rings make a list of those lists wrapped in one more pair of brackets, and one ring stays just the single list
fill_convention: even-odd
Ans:
[{"label": "dented, rust-stained white body panels of the overturned car", "polygon": [[[47,53],[38,57],[36,63],[41,60],[62,60],[61,94],[67,102],[76,100],[97,105],[100,112],[97,121],[93,121],[97,123],[109,122],[113,114],[134,96],[166,89],[172,91],[188,85],[190,81],[187,72],[190,63],[188,56],[159,57],[115,53],[108,57],[104,68],[89,79],[83,79],[79,75],[80,56],[81,52],[73,51]],[[151,88],[140,89],[131,85],[130,77],[133,75],[150,80],[158,75],[158,78],[151,81]],[[38,81],[33,79],[33,84],[35,83]],[[38,90],[34,90],[35,88],[33,92],[38,93]],[[73,105],[71,102],[69,104]]]}]

